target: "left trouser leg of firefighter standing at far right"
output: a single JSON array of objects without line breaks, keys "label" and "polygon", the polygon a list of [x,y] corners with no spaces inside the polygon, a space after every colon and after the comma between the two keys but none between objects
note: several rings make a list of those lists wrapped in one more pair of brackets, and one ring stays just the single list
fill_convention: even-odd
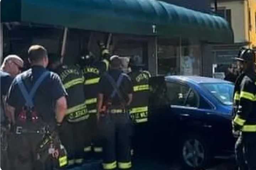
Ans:
[{"label": "left trouser leg of firefighter standing at far right", "polygon": [[242,135],[240,135],[238,140],[236,141],[235,156],[236,156],[236,163],[238,165],[239,170],[248,170],[245,156],[244,156],[244,139]]}]

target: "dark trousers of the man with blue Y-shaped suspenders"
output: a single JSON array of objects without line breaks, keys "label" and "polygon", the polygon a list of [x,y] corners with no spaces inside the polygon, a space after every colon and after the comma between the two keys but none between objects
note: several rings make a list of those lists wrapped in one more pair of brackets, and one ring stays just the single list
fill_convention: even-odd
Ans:
[{"label": "dark trousers of the man with blue Y-shaped suspenders", "polygon": [[[9,135],[8,154],[11,170],[44,170],[44,162],[37,160],[36,149],[43,134]],[[2,158],[1,158],[2,159]]]}]

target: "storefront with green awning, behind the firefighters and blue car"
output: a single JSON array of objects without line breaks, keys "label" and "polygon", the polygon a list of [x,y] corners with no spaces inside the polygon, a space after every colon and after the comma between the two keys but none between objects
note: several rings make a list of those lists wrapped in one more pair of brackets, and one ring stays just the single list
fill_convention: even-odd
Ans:
[{"label": "storefront with green awning, behind the firefighters and blue car", "polygon": [[208,12],[208,0],[9,2],[1,1],[4,56],[26,58],[31,44],[41,44],[72,64],[85,49],[100,56],[97,42],[104,41],[153,75],[211,76],[211,44],[233,41],[229,24]]}]

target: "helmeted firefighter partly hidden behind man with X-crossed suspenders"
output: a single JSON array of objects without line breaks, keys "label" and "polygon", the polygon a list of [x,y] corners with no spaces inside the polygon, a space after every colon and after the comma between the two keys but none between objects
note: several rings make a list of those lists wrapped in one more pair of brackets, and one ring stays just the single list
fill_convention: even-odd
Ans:
[{"label": "helmeted firefighter partly hidden behind man with X-crossed suspenders", "polygon": [[85,146],[84,152],[88,153],[93,151],[95,158],[101,158],[102,146],[100,136],[97,130],[97,96],[98,96],[98,83],[100,80],[101,70],[99,62],[96,61],[95,56],[86,50],[84,55],[80,57],[79,65],[84,75],[84,92],[85,103],[87,111],[90,114],[89,127],[91,136],[91,147]]}]

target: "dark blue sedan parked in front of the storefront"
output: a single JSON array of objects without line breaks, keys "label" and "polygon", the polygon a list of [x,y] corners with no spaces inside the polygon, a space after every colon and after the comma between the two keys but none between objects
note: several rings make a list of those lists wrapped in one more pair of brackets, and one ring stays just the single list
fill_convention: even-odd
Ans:
[{"label": "dark blue sedan parked in front of the storefront", "polygon": [[151,141],[161,155],[169,160],[179,155],[186,168],[198,169],[209,165],[215,156],[234,153],[233,83],[167,76],[153,77],[150,85]]}]

